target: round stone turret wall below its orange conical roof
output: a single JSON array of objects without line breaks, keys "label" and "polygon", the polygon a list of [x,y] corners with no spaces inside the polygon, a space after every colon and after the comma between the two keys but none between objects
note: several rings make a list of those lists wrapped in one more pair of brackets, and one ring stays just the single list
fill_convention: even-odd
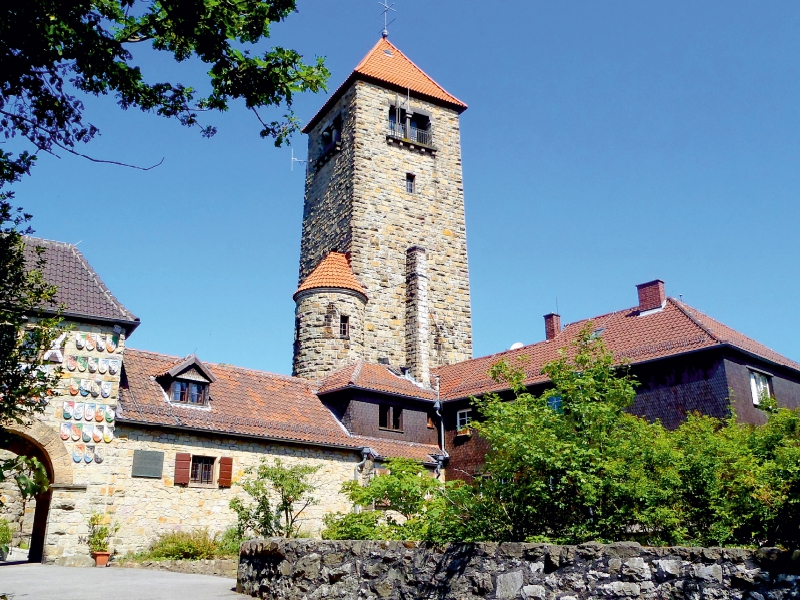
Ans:
[{"label": "round stone turret wall below its orange conical roof", "polygon": [[[329,316],[329,326],[326,326]],[[350,318],[350,335],[339,333],[339,317]],[[364,301],[335,290],[311,290],[297,300],[292,373],[317,379],[361,358],[364,351]]]}]

